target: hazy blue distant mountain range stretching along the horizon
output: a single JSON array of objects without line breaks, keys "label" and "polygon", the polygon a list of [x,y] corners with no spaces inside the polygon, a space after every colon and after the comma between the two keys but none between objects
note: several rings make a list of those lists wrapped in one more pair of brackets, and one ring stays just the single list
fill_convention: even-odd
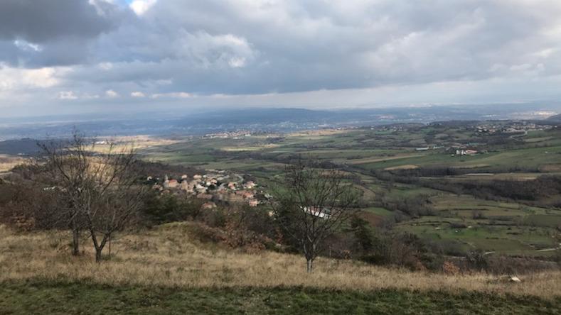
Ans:
[{"label": "hazy blue distant mountain range stretching along the horizon", "polygon": [[[543,119],[561,106],[500,104],[493,106],[422,106],[376,109],[230,109],[199,113],[156,111],[134,115],[73,115],[0,118],[0,140],[68,136],[78,128],[88,136],[193,135],[223,131],[288,132],[315,128],[376,126],[390,123]],[[553,118],[555,119],[555,118]]]}]

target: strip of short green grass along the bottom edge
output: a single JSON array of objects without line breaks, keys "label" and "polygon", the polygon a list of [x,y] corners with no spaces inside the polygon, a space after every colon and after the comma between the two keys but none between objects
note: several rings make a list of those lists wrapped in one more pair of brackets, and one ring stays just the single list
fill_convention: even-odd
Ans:
[{"label": "strip of short green grass along the bottom edge", "polygon": [[0,284],[2,314],[560,314],[561,299],[480,292],[173,289],[65,282]]}]

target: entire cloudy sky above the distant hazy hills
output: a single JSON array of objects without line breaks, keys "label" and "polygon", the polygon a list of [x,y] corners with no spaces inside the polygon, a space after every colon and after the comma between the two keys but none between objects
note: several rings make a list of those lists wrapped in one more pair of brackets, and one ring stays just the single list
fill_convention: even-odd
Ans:
[{"label": "entire cloudy sky above the distant hazy hills", "polygon": [[561,1],[1,0],[4,116],[561,96]]}]

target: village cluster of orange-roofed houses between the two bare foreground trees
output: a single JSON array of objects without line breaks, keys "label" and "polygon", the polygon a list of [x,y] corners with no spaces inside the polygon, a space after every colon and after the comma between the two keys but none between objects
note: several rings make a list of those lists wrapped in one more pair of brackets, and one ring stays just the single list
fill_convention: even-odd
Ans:
[{"label": "village cluster of orange-roofed houses between the two bare foreground trees", "polygon": [[163,181],[153,177],[146,180],[154,183],[154,189],[163,193],[186,193],[204,199],[206,202],[203,209],[215,208],[216,202],[258,206],[270,198],[268,194],[257,191],[255,182],[246,181],[241,175],[223,170],[204,175],[196,174],[193,177],[182,175],[179,179],[172,179],[166,175]]}]

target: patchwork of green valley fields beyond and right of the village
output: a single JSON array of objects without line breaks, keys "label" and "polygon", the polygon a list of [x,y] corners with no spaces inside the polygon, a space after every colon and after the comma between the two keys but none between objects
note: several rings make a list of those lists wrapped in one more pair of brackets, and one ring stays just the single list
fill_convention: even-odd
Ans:
[{"label": "patchwork of green valley fields beyond and right of the village", "polygon": [[[458,175],[418,177],[451,184],[557,176],[561,172],[561,131],[555,128],[481,134],[466,123],[437,123],[174,141],[144,148],[141,153],[148,160],[243,172],[256,177],[262,187],[267,187],[292,158],[312,156],[360,179],[365,207],[378,208],[378,213],[363,209],[378,218],[373,222],[392,215],[390,209],[380,210],[376,202],[380,197],[427,199],[435,216],[412,218],[398,223],[397,228],[437,242],[457,241],[464,250],[547,258],[560,247],[561,209],[555,203],[561,201],[561,192],[548,200],[489,200],[424,184],[388,182],[375,175],[434,167],[460,170]],[[479,153],[455,155],[456,145],[468,145]],[[419,149],[427,147],[432,149]],[[478,219],[474,219],[476,215]],[[458,228],[458,224],[466,228]]]}]

